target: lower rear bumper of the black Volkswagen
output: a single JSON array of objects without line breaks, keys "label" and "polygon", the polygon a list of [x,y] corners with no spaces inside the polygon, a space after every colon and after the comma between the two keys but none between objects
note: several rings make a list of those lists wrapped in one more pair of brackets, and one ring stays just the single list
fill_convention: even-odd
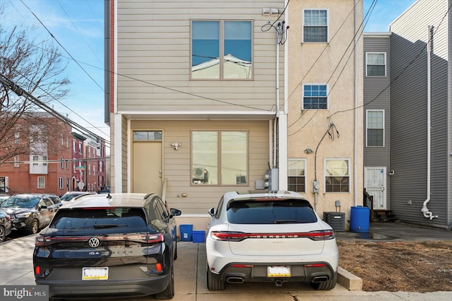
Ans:
[{"label": "lower rear bumper of the black Volkswagen", "polygon": [[141,297],[154,295],[167,288],[169,275],[155,276],[132,281],[44,281],[36,280],[37,285],[49,285],[50,297],[71,299],[105,297]]}]

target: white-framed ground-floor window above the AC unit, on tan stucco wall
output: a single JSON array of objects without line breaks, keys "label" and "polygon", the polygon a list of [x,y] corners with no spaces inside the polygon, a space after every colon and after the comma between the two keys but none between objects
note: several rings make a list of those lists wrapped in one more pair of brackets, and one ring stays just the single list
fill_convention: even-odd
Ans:
[{"label": "white-framed ground-floor window above the AC unit, on tan stucco wall", "polygon": [[350,192],[350,159],[325,159],[325,192]]}]

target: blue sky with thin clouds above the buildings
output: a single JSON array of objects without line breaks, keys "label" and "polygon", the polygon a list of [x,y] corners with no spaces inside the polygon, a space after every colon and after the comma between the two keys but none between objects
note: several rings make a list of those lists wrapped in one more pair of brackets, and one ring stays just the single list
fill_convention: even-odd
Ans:
[{"label": "blue sky with thin clouds above the buildings", "polygon": [[[372,2],[364,0],[363,16]],[[388,31],[389,24],[414,2],[377,0],[364,31]],[[0,0],[1,3],[7,12],[2,25],[34,26],[36,45],[44,40],[62,45],[60,51],[68,61],[66,75],[71,81],[71,92],[66,99],[50,105],[109,141],[109,127],[104,123],[104,0]]]}]

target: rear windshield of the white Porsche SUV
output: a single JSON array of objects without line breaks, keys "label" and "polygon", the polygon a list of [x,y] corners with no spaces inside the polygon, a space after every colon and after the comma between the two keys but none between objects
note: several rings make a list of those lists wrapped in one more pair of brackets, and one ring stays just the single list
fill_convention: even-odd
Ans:
[{"label": "rear windshield of the white Porsche SUV", "polygon": [[227,220],[234,224],[315,223],[316,215],[303,200],[240,200],[227,206]]}]

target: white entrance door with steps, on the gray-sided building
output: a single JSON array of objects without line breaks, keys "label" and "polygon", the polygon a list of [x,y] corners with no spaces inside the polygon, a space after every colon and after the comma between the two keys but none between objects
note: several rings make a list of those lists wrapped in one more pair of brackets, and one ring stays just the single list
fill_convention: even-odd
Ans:
[{"label": "white entrance door with steps, on the gray-sided building", "polygon": [[374,210],[386,210],[386,167],[364,167],[364,188],[374,196]]}]

